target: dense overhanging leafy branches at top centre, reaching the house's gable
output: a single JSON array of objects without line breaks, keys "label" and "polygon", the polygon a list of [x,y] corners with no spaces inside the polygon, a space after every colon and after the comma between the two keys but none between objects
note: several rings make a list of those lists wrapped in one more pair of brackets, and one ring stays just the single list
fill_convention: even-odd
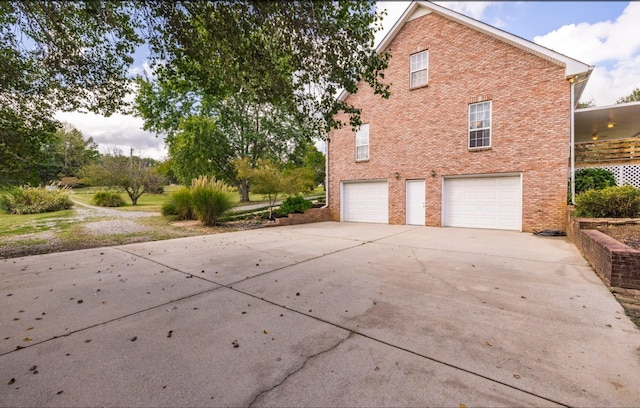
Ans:
[{"label": "dense overhanging leafy branches at top centre, reaching the house's gable", "polygon": [[375,2],[177,1],[145,9],[157,79],[218,100],[244,93],[310,119],[317,136],[343,123],[335,114],[359,109],[337,100],[364,80],[389,96],[389,54],[374,49],[382,15]]}]

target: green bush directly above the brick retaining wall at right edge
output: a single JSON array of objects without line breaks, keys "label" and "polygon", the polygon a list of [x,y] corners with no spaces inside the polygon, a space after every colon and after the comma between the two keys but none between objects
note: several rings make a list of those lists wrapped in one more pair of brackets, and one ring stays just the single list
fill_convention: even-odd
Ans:
[{"label": "green bush directly above the brick retaining wall at right edge", "polygon": [[576,196],[576,217],[640,217],[640,189],[630,185],[589,190]]}]

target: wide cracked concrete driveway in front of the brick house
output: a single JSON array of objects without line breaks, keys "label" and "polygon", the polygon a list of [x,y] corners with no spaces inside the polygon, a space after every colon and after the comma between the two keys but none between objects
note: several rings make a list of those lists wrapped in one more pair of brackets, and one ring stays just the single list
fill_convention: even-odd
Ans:
[{"label": "wide cracked concrete driveway in front of the brick house", "polygon": [[2,406],[640,405],[640,330],[565,238],[327,222],[0,282]]}]

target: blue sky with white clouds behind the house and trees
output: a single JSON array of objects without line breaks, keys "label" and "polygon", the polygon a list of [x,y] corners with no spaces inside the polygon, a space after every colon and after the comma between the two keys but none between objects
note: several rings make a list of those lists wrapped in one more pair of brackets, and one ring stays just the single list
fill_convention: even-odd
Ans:
[{"label": "blue sky with white clouds behind the house and trees", "polygon": [[[640,2],[534,2],[534,1],[437,1],[468,17],[535,42],[577,59],[595,69],[582,94],[582,101],[596,106],[612,105],[640,87]],[[386,9],[380,41],[410,4],[380,1]],[[132,73],[148,66],[144,53],[137,55]],[[78,112],[60,112],[56,118],[68,122],[85,137],[93,137],[103,153],[120,149],[141,157],[167,156],[162,136],[142,130],[142,119],[122,114],[103,117]]]}]

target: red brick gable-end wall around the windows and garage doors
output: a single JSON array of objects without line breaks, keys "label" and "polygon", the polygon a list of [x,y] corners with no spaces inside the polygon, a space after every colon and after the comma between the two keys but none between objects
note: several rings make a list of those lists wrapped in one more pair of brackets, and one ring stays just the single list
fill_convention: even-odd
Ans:
[{"label": "red brick gable-end wall around the windows and garage doors", "polygon": [[[522,173],[522,229],[564,230],[570,133],[564,67],[436,13],[407,22],[390,49],[391,97],[361,83],[347,98],[369,123],[370,160],[355,161],[350,126],[329,135],[331,218],[340,219],[345,180],[387,179],[389,222],[404,224],[405,182],[424,178],[426,223],[440,226],[442,177]],[[425,49],[429,85],[409,89],[410,55]],[[468,104],[478,96],[492,101],[492,147],[469,151]]]}]

